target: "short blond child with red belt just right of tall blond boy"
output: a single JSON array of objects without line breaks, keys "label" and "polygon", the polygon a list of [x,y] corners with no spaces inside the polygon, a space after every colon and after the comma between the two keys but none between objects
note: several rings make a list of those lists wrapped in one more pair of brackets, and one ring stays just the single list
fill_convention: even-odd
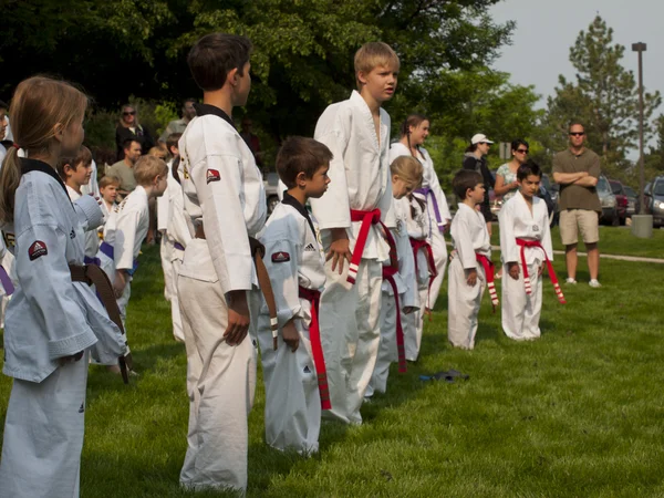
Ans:
[{"label": "short blond child with red belt just right of tall blond boy", "polygon": [[405,317],[419,309],[415,286],[415,260],[406,227],[407,197],[422,184],[423,166],[411,156],[400,156],[390,165],[396,226],[390,229],[396,255],[383,266],[381,289],[381,345],[371,382],[364,397],[387,390],[390,364],[398,361],[400,372],[406,371]]}]

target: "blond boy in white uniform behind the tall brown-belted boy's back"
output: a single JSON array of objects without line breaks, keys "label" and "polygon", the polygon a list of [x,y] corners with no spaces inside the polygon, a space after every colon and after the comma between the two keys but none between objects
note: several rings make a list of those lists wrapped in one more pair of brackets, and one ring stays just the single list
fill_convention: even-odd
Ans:
[{"label": "blond boy in white uniform behind the tall brown-belted boy's back", "polygon": [[[138,159],[134,166],[136,188],[113,208],[104,226],[104,241],[100,245],[97,258],[113,284],[123,324],[126,322],[136,258],[149,225],[148,201],[164,194],[167,174],[168,167],[162,159],[154,156]],[[127,366],[132,366],[131,361]]]}]

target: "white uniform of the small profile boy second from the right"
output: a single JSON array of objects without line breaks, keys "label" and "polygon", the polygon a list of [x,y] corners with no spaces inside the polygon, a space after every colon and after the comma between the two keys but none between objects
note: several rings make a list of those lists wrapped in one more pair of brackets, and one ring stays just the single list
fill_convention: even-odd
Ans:
[{"label": "white uniform of the small profile boy second from the right", "polygon": [[[491,239],[487,222],[477,209],[459,203],[452,220],[452,241],[456,256],[449,263],[447,280],[447,340],[456,347],[475,347],[477,314],[486,287],[484,267],[477,253],[491,257]],[[468,286],[466,270],[477,270],[477,282]]]}]

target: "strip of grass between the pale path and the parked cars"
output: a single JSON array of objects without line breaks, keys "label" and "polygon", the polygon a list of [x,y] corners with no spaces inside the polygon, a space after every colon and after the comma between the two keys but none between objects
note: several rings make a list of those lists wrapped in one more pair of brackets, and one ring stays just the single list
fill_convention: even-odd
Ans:
[{"label": "strip of grass between the pale path and the parked cars", "polygon": [[[500,246],[498,224],[494,224],[491,243]],[[563,251],[560,241],[560,228],[551,230],[553,249]],[[653,230],[651,239],[639,239],[632,235],[630,227],[600,226],[600,252],[602,255],[640,256],[643,258],[664,258],[664,230]],[[579,236],[579,251],[585,251],[583,241]]]}]

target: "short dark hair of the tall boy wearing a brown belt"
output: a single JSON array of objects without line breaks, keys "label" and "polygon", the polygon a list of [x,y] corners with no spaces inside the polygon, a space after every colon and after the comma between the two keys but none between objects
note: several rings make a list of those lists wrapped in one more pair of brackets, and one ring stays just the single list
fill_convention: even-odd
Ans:
[{"label": "short dark hair of the tall boy wearing a brown belt", "polygon": [[246,37],[210,33],[203,37],[189,51],[187,64],[194,81],[204,92],[219,90],[229,71],[238,70],[243,76],[245,64],[251,55],[251,42]]}]

